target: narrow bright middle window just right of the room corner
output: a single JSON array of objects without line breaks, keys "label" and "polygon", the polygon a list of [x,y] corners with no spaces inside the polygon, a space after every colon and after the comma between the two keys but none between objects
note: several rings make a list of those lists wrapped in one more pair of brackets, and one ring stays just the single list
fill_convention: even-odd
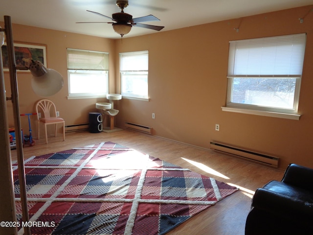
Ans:
[{"label": "narrow bright middle window just right of the room corner", "polygon": [[121,94],[148,99],[148,51],[120,53]]}]

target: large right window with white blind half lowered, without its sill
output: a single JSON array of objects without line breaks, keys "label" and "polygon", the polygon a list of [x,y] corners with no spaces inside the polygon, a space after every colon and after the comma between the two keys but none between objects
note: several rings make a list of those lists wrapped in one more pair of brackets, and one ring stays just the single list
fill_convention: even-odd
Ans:
[{"label": "large right window with white blind half lowered, without its sill", "polygon": [[297,114],[305,43],[306,34],[229,42],[226,107]]}]

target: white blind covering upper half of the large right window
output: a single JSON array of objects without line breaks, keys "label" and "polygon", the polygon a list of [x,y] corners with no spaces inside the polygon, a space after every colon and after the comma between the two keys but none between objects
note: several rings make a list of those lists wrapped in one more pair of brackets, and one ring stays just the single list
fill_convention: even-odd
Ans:
[{"label": "white blind covering upper half of the large right window", "polygon": [[305,33],[231,41],[227,75],[299,77],[305,43]]}]

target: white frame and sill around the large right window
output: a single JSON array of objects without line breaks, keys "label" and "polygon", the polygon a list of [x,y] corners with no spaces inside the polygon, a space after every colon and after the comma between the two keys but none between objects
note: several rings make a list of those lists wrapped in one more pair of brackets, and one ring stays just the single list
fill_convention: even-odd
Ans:
[{"label": "white frame and sill around the large right window", "polygon": [[[258,42],[262,40],[284,40],[288,39],[288,37],[294,36],[299,38],[303,37],[301,42],[301,55],[300,59],[302,61],[298,65],[301,65],[300,74],[236,74],[235,72],[235,53],[236,53],[236,46],[231,45],[231,43],[245,43],[247,41]],[[257,38],[257,39],[248,39],[248,40],[238,40],[238,41],[230,41],[229,42],[229,58],[228,58],[228,72],[227,72],[227,94],[226,94],[226,105],[222,107],[223,111],[228,112],[236,112],[236,113],[244,113],[244,114],[253,114],[253,115],[260,115],[260,116],[268,116],[268,117],[277,117],[277,118],[288,118],[288,119],[296,119],[298,120],[301,115],[298,114],[298,105],[299,105],[299,96],[300,96],[300,85],[301,85],[301,77],[302,77],[302,69],[303,69],[303,62],[304,62],[304,53],[305,53],[305,46],[306,46],[306,34],[294,34],[294,35],[285,35],[285,36],[276,36],[276,37],[267,37],[267,38]],[[278,42],[279,43],[279,42]],[[293,45],[292,45],[293,46]],[[256,47],[260,47],[260,44]],[[244,61],[245,63],[246,61]],[[237,62],[238,63],[238,62]],[[260,62],[258,62],[260,64]],[[266,68],[266,67],[263,67]],[[250,69],[250,68],[249,68]],[[233,71],[231,71],[233,70]],[[239,69],[240,71],[240,69]],[[248,71],[248,69],[247,69]],[[284,71],[285,72],[285,71]],[[275,72],[273,72],[275,73]],[[292,72],[291,72],[292,73]],[[234,79],[236,78],[265,78],[265,79],[281,79],[281,78],[290,78],[295,79],[295,89],[294,89],[294,96],[293,96],[293,107],[292,108],[283,108],[283,107],[270,107],[264,105],[256,105],[256,104],[244,104],[239,102],[232,102],[232,93],[233,93],[233,86],[234,86]]]}]

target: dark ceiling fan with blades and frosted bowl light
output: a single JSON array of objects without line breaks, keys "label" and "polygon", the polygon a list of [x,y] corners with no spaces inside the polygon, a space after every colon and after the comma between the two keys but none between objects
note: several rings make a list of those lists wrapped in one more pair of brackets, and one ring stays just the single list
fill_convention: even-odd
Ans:
[{"label": "dark ceiling fan with blades and frosted bowl light", "polygon": [[153,29],[160,31],[164,26],[156,26],[156,25],[151,25],[151,24],[141,24],[141,22],[147,22],[147,21],[159,21],[155,16],[153,15],[148,15],[148,16],[143,16],[143,17],[138,17],[134,18],[130,14],[127,14],[124,12],[124,9],[128,7],[128,0],[117,0],[116,5],[121,9],[121,12],[113,13],[112,18],[109,16],[102,15],[101,13],[94,12],[94,11],[89,11],[91,13],[97,14],[99,16],[105,17],[107,19],[110,19],[114,22],[77,22],[77,23],[108,23],[112,24],[113,29],[116,33],[121,35],[122,37],[125,34],[128,34],[132,26],[137,26],[137,27],[142,27],[142,28],[148,28],[148,29]]}]

